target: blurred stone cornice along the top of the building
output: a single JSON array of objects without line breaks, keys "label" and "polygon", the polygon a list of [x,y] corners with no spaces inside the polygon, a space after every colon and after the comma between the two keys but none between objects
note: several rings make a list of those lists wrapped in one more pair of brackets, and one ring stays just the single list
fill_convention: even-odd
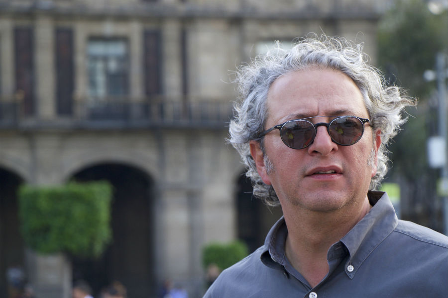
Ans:
[{"label": "blurred stone cornice along the top of the building", "polygon": [[302,8],[266,11],[254,7],[227,8],[224,6],[204,6],[192,4],[139,3],[134,5],[111,5],[100,7],[80,3],[57,3],[53,1],[36,1],[17,5],[12,1],[0,1],[0,15],[11,14],[32,17],[37,15],[54,15],[70,18],[179,18],[179,19],[232,19],[232,20],[377,20],[382,12],[366,7],[335,6],[324,11],[315,5]]}]

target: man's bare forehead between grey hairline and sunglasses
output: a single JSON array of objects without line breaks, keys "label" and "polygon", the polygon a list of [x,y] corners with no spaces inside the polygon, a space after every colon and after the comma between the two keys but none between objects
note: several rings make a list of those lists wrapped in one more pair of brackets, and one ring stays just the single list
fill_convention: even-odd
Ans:
[{"label": "man's bare forehead between grey hairline and sunglasses", "polygon": [[278,77],[269,88],[266,109],[267,124],[317,115],[369,116],[355,82],[346,74],[328,68]]}]

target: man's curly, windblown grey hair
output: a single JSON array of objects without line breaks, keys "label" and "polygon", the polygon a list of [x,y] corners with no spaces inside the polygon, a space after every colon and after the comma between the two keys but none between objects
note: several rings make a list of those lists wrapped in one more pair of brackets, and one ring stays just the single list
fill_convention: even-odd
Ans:
[{"label": "man's curly, windblown grey hair", "polygon": [[310,67],[328,68],[350,77],[364,99],[370,121],[375,131],[381,131],[381,145],[378,150],[378,165],[369,189],[376,188],[384,178],[389,161],[386,145],[406,122],[402,111],[416,102],[404,96],[396,86],[386,86],[379,70],[367,64],[367,56],[362,53],[362,45],[354,44],[340,37],[302,38],[291,50],[277,47],[265,55],[257,56],[249,65],[236,71],[239,101],[235,102],[235,117],[229,125],[228,142],[238,151],[247,166],[246,176],[253,185],[253,195],[266,205],[279,204],[271,185],[266,185],[259,176],[255,162],[250,155],[249,141],[256,140],[263,149],[261,132],[265,130],[267,119],[266,98],[272,82],[278,77],[305,70]]}]

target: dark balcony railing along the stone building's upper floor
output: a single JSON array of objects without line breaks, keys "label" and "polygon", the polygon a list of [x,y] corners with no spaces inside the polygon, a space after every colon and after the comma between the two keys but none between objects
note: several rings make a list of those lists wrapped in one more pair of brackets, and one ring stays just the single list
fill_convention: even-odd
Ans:
[{"label": "dark balcony railing along the stone building's upper floor", "polygon": [[231,104],[224,101],[77,99],[54,117],[25,115],[20,100],[0,101],[0,129],[225,128]]}]

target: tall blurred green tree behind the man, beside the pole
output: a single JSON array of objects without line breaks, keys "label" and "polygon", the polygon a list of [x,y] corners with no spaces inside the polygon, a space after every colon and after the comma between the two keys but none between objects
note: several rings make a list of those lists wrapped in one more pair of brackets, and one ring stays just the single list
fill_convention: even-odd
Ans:
[{"label": "tall blurred green tree behind the man, beside the pole", "polygon": [[[423,0],[396,0],[384,14],[378,28],[378,62],[390,84],[402,86],[419,101],[409,109],[408,123],[389,146],[393,167],[389,177],[400,177],[410,189],[409,204],[423,206],[421,214],[403,214],[420,224],[441,230],[434,215],[435,178],[427,161],[426,140],[434,134],[435,109],[429,98],[435,82],[425,81],[426,70],[434,69],[436,54],[447,54],[448,14],[431,13]],[[428,216],[430,215],[430,216]],[[435,218],[435,217],[434,217]]]}]

